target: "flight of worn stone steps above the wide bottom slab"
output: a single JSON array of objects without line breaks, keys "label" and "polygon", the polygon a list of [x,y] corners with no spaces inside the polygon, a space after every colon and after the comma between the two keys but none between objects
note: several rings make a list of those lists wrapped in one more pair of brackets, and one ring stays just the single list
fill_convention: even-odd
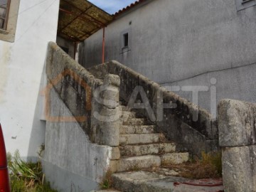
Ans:
[{"label": "flight of worn stone steps above the wide bottom slab", "polygon": [[158,133],[156,125],[138,117],[136,111],[122,107],[119,149],[121,159],[117,171],[159,167],[161,164],[181,164],[188,161],[188,152],[177,152],[176,144]]}]

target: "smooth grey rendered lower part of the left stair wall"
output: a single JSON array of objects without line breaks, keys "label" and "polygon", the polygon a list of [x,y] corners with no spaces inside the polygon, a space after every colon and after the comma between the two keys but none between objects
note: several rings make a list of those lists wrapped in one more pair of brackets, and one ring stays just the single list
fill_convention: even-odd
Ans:
[{"label": "smooth grey rendered lower part of the left stair wall", "polygon": [[[50,92],[51,115],[72,117],[54,89]],[[98,187],[112,158],[112,147],[92,144],[78,122],[46,124],[43,171],[58,191],[91,191]]]}]

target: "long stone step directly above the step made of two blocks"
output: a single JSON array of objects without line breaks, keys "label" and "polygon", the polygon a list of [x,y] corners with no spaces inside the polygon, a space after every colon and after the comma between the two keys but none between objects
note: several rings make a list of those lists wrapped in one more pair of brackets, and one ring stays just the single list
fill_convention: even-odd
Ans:
[{"label": "long stone step directly above the step made of two blocks", "polygon": [[119,146],[121,156],[142,156],[147,154],[165,154],[176,150],[174,143],[142,144]]}]

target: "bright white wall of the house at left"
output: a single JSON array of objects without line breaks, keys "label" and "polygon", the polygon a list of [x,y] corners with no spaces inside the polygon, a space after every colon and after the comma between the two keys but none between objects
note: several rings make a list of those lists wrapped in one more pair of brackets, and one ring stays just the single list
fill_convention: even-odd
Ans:
[{"label": "bright white wall of the house at left", "polygon": [[18,149],[23,157],[38,156],[44,143],[40,90],[47,44],[56,38],[58,9],[58,0],[21,0],[14,43],[0,38],[0,121],[6,150]]}]

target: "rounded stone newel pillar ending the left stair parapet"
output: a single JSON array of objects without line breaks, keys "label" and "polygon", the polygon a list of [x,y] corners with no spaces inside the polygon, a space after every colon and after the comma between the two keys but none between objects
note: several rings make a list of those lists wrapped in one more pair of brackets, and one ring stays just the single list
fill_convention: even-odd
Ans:
[{"label": "rounded stone newel pillar ending the left stair parapet", "polygon": [[119,85],[119,76],[108,74],[93,93],[92,138],[97,144],[119,146]]}]

